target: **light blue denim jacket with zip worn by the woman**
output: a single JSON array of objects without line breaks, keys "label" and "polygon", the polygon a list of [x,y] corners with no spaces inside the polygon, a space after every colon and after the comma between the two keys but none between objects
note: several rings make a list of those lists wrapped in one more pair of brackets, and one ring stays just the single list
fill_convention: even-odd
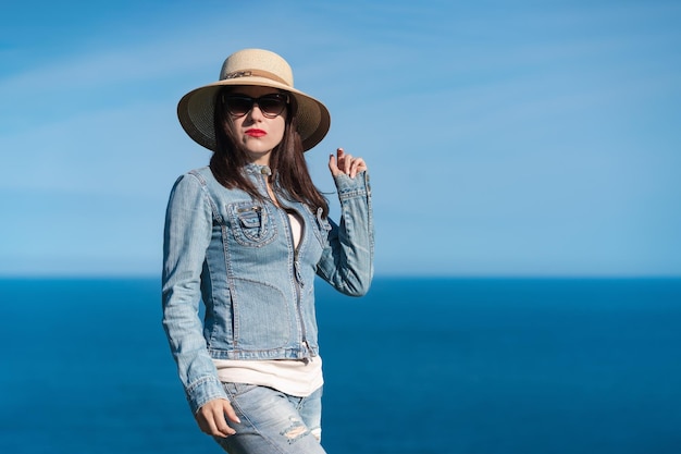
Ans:
[{"label": "light blue denim jacket with zip worn by the woman", "polygon": [[[361,296],[373,275],[367,172],[335,177],[340,221],[267,196],[268,167],[249,164],[264,201],[226,189],[209,168],[181,176],[163,241],[163,327],[189,406],[227,398],[212,359],[294,359],[319,354],[314,277]],[[302,220],[298,247],[286,210]],[[203,322],[199,302],[205,304]]]}]

